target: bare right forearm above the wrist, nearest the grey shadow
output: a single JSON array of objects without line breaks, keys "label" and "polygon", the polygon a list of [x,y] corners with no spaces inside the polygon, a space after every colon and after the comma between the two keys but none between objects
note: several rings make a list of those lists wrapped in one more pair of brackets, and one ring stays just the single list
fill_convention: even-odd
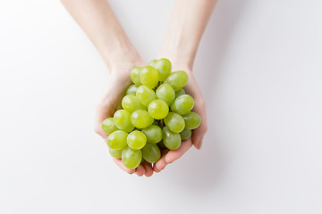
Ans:
[{"label": "bare right forearm above the wrist, nearest the grey shadow", "polygon": [[176,0],[159,57],[192,68],[215,4],[216,0]]}]

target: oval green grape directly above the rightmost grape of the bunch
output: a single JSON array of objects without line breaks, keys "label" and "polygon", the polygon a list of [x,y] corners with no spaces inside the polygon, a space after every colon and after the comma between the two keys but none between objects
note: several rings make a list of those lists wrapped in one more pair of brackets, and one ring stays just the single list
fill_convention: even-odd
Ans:
[{"label": "oval green grape directly above the rightmost grape of the bunch", "polygon": [[174,100],[171,110],[181,115],[187,114],[192,110],[193,104],[191,95],[181,95]]}]

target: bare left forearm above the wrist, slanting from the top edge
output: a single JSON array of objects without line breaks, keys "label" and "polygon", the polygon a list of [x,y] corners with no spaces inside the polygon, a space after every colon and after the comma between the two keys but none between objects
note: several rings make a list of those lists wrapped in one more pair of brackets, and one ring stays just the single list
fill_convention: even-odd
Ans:
[{"label": "bare left forearm above the wrist, slanting from the top edge", "polygon": [[[123,63],[141,61],[106,0],[61,0],[88,35],[109,70]],[[122,62],[121,62],[122,61]],[[126,66],[126,65],[125,65]]]}]

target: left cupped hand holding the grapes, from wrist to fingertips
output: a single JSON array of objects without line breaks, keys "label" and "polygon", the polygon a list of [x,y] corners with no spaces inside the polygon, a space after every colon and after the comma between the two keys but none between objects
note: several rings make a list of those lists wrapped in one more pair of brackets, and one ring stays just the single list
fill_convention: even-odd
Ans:
[{"label": "left cupped hand holding the grapes, from wrist to fingertips", "polygon": [[[130,70],[135,66],[143,65],[143,62],[140,62],[139,64],[131,64],[129,66],[124,66],[123,68],[112,69],[106,88],[97,105],[95,119],[95,132],[99,136],[102,136],[105,142],[107,140],[107,135],[101,128],[102,121],[106,118],[113,117],[114,112],[122,108],[121,102],[125,95],[126,88],[131,85]],[[146,177],[153,175],[152,165],[146,161],[143,161],[136,169],[127,169],[123,165],[121,159],[113,158],[113,161],[117,166],[129,174],[133,174],[135,172],[140,177],[143,175]]]}]

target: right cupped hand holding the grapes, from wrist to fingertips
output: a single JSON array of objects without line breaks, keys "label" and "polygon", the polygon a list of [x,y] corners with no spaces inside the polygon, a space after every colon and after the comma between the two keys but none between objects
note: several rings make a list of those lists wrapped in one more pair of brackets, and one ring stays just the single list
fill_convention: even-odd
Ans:
[{"label": "right cupped hand holding the grapes, from wrist to fingertips", "polygon": [[[176,64],[174,63],[174,66]],[[192,131],[192,136],[189,140],[182,141],[180,147],[173,151],[165,151],[163,152],[161,159],[157,161],[157,163],[153,166],[155,172],[160,172],[161,170],[165,169],[167,164],[170,164],[187,152],[192,144],[197,148],[200,149],[202,145],[203,137],[207,132],[207,116],[206,116],[206,104],[203,98],[203,95],[199,89],[198,83],[196,79],[193,77],[192,71],[189,66],[176,66],[173,70],[184,70],[187,72],[189,76],[189,80],[186,86],[184,86],[184,90],[186,94],[191,95],[194,99],[194,107],[192,111],[195,111],[200,115],[201,123],[199,128],[196,128]]]}]

